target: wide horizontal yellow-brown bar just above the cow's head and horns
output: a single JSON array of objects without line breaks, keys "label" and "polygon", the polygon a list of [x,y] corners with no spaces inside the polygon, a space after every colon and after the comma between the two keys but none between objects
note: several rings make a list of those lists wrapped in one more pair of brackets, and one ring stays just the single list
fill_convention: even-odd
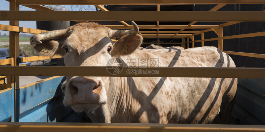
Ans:
[{"label": "wide horizontal yellow-brown bar just above the cow's head and horns", "polygon": [[[0,14],[1,15],[0,20],[10,20],[10,21],[14,20],[20,20],[20,21],[25,21],[25,20],[27,21],[43,21],[43,20],[261,21],[261,22],[265,21],[265,17],[260,17],[260,16],[265,16],[264,11],[1,11],[1,12],[2,13]],[[87,16],[87,17],[81,17],[81,16]],[[169,17],[169,16],[174,16],[174,17]]]}]

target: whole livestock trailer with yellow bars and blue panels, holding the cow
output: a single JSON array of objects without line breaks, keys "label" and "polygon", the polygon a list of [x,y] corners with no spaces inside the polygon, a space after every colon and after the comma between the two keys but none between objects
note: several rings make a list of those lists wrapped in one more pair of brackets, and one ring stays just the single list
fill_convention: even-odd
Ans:
[{"label": "whole livestock trailer with yellow bars and blue panels, holding the cow", "polygon": [[[0,30],[10,33],[10,57],[0,60],[0,65],[7,65],[0,67],[0,131],[36,129],[38,131],[87,131],[88,129],[265,131],[265,2],[263,0],[214,2],[207,0],[9,0],[8,2],[10,10],[0,11],[0,21],[10,21],[10,25],[0,24]],[[19,10],[20,5],[32,8],[34,11]],[[94,5],[101,11],[55,11],[43,5]],[[107,7],[102,5],[118,5],[122,7],[121,9],[125,9],[124,5],[128,5],[134,10],[108,11]],[[138,10],[146,7],[145,5],[151,5],[152,8]],[[254,8],[250,8],[253,10],[242,8],[247,6]],[[114,7],[109,7],[109,10]],[[169,7],[172,7],[172,10],[167,10]],[[145,45],[174,45],[183,48],[216,46],[222,52],[231,55],[237,68],[160,67],[158,75],[128,75],[125,73],[126,70],[113,75],[105,67],[19,66],[21,62],[51,59],[47,56],[19,58],[19,33],[39,34],[46,31],[20,27],[19,21],[120,23],[104,25],[112,29],[132,29],[133,26],[128,21],[135,21],[140,28],[139,34],[145,39],[143,43]],[[246,44],[242,46],[241,43]],[[60,58],[60,56],[53,58]],[[255,62],[258,64],[253,64]],[[150,68],[152,69],[157,70],[155,67]],[[19,76],[53,77],[20,87]],[[231,117],[234,125],[84,123],[88,121],[86,114],[75,113],[62,104],[63,95],[60,87],[65,80],[64,76],[239,78],[236,103]]]}]

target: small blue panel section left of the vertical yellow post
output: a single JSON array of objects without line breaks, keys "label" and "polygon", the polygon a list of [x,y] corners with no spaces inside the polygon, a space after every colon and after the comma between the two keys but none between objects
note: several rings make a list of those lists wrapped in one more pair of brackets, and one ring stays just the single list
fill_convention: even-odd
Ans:
[{"label": "small blue panel section left of the vertical yellow post", "polygon": [[8,122],[12,115],[12,90],[0,90],[0,122]]}]

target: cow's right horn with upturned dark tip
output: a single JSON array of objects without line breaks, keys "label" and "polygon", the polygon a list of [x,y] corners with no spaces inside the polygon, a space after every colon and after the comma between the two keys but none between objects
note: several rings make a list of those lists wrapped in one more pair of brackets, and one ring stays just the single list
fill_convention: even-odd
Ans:
[{"label": "cow's right horn with upturned dark tip", "polygon": [[131,30],[111,30],[112,38],[119,38],[126,34],[138,34],[139,27],[135,22],[132,21],[134,29]]}]

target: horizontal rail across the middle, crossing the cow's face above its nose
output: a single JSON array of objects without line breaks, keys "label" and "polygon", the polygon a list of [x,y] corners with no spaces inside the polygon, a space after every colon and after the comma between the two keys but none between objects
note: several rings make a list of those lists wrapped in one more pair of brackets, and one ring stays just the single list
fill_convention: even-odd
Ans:
[{"label": "horizontal rail across the middle, crossing the cow's face above its nose", "polygon": [[[147,70],[150,74],[145,74]],[[265,68],[123,67],[119,74],[113,75],[105,66],[1,66],[0,76],[265,78]]]}]

